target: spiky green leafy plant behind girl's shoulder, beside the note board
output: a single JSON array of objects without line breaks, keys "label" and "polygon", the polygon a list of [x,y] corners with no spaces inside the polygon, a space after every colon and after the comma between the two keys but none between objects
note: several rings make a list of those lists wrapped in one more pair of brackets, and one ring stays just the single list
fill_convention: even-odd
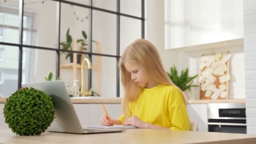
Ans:
[{"label": "spiky green leafy plant behind girl's shoulder, beside the note board", "polygon": [[188,68],[185,70],[182,70],[181,75],[179,76],[176,67],[173,65],[173,67],[171,67],[171,73],[167,72],[167,74],[170,77],[170,79],[173,81],[173,83],[181,89],[181,91],[189,90],[189,92],[191,93],[192,87],[198,87],[198,85],[192,85],[193,81],[198,75],[194,75],[190,77],[188,75],[189,74]]}]

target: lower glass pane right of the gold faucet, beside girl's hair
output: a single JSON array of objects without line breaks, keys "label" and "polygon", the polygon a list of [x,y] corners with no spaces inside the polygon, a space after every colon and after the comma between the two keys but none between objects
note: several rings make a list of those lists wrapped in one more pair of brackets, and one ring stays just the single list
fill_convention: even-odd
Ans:
[{"label": "lower glass pane right of the gold faucet, beside girl's hair", "polygon": [[92,56],[92,90],[101,97],[116,97],[117,59],[106,56]]}]

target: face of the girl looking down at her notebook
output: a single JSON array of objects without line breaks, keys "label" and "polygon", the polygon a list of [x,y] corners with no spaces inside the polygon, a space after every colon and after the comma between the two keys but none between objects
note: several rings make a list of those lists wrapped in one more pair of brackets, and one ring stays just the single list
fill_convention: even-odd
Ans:
[{"label": "face of the girl looking down at her notebook", "polygon": [[124,66],[125,69],[130,72],[131,79],[134,81],[134,83],[141,87],[144,87],[147,83],[149,83],[149,78],[138,64],[126,61]]}]

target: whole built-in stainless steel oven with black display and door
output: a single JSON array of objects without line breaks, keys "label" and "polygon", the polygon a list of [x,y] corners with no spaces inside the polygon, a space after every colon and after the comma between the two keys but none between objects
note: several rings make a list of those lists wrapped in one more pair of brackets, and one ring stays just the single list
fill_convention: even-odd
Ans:
[{"label": "whole built-in stainless steel oven with black display and door", "polygon": [[208,131],[246,133],[245,104],[208,104]]}]

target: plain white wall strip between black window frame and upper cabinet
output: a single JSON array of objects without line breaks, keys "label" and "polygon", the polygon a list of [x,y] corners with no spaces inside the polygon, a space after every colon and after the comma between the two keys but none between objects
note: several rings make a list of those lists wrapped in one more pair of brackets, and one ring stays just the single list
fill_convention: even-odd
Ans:
[{"label": "plain white wall strip between black window frame and upper cabinet", "polygon": [[178,65],[178,53],[165,51],[164,45],[164,0],[146,0],[146,39],[152,42],[160,53],[166,71]]}]

